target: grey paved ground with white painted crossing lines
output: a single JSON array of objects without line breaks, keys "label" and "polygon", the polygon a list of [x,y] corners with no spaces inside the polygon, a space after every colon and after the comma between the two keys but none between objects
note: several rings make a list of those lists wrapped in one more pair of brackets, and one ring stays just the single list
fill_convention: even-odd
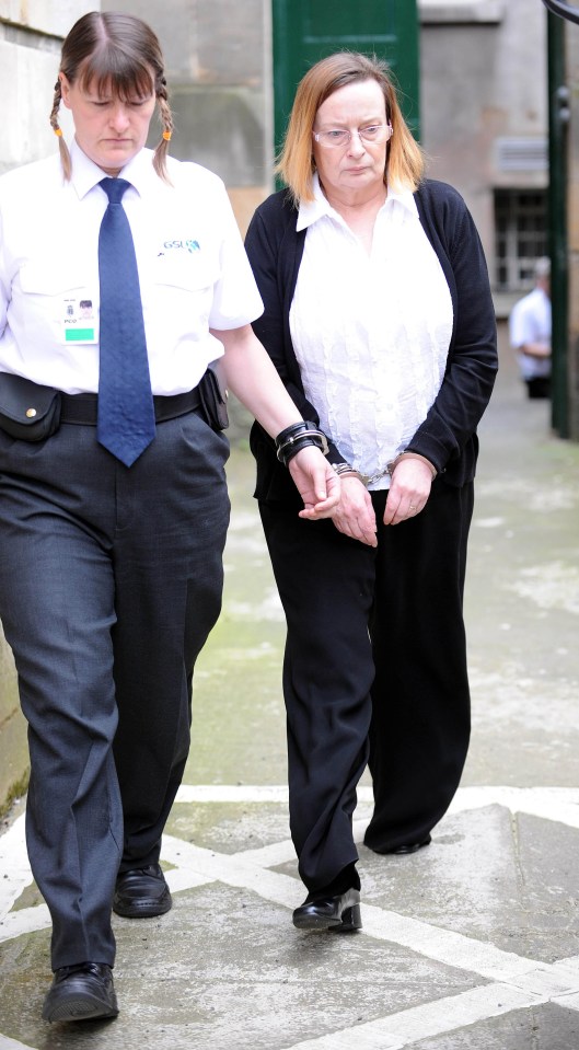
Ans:
[{"label": "grey paved ground with white painted crossing lines", "polygon": [[[48,1026],[48,920],[23,803],[0,836],[0,1050],[579,1048],[579,447],[549,436],[508,351],[480,428],[467,581],[474,734],[463,785],[412,857],[360,846],[363,931],[299,933],[279,665],[253,501],[230,470],[223,615],[164,840],[174,909],[117,919],[114,1023]],[[370,812],[363,782],[361,841]]]}]

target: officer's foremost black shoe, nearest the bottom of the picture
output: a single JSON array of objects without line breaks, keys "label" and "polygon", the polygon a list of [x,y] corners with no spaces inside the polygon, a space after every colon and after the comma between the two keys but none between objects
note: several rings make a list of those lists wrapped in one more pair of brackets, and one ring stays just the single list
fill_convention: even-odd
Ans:
[{"label": "officer's foremost black shoe, nearest the bottom of the picture", "polygon": [[43,1020],[95,1020],[117,1014],[109,966],[79,962],[56,970],[44,1001]]}]

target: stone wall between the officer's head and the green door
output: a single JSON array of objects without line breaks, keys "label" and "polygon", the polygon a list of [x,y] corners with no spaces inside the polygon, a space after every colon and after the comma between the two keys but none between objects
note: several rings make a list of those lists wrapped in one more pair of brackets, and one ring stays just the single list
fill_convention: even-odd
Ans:
[{"label": "stone wall between the officer's head and the green door", "polygon": [[[101,7],[135,11],[128,0]],[[271,186],[269,2],[142,0],[138,13],[165,57],[175,118],[171,153],[220,175],[245,232]]]}]

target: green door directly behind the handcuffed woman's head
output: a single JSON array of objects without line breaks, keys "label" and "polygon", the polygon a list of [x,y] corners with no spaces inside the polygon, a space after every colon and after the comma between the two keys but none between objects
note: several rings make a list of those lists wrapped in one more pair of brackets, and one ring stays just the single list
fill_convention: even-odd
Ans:
[{"label": "green door directly behind the handcuffed woman's head", "polygon": [[385,59],[414,134],[418,119],[416,0],[271,0],[276,152],[298,82],[320,58],[354,50]]}]

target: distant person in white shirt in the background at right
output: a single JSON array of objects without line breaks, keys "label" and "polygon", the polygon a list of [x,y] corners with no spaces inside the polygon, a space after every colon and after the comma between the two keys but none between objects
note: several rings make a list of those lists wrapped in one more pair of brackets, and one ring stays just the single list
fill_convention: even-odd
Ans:
[{"label": "distant person in white shirt in the background at right", "polygon": [[537,258],[535,287],[514,303],[509,316],[510,343],[517,353],[529,397],[551,395],[551,259]]}]

